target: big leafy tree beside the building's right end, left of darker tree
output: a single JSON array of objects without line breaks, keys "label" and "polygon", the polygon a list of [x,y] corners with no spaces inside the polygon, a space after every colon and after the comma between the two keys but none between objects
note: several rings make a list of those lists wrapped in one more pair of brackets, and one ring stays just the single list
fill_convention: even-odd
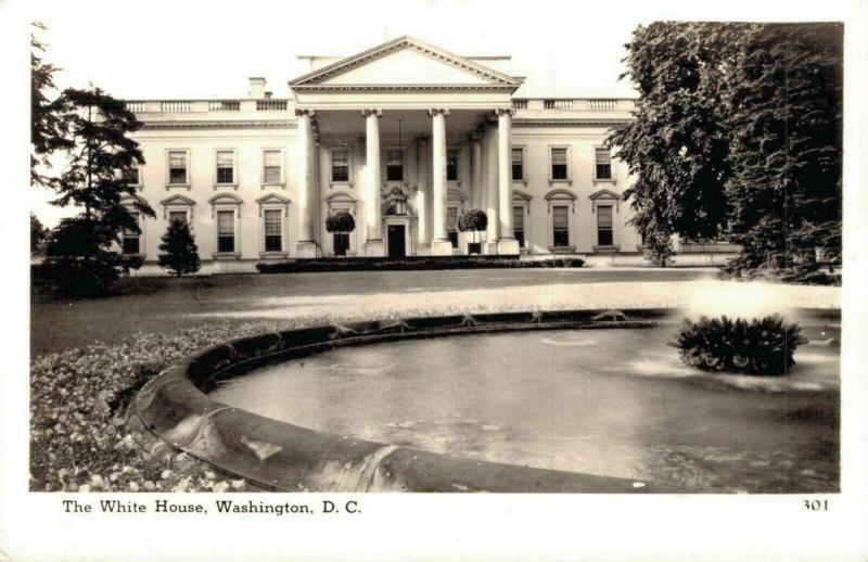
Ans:
[{"label": "big leafy tree beside the building's right end, left of darker tree", "polygon": [[724,98],[746,28],[661,22],[639,26],[626,46],[626,75],[640,98],[636,119],[609,143],[636,177],[624,197],[659,265],[672,255],[672,234],[714,239],[726,226],[731,169]]}]

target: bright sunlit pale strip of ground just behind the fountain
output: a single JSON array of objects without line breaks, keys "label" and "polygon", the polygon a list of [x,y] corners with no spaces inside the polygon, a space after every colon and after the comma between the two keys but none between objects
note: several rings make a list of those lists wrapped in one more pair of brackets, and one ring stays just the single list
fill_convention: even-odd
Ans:
[{"label": "bright sunlit pale strip of ground just behind the fountain", "polygon": [[602,282],[258,299],[246,310],[200,316],[239,319],[375,319],[468,312],[679,308],[693,315],[758,316],[793,308],[839,308],[840,289],[726,281]]}]

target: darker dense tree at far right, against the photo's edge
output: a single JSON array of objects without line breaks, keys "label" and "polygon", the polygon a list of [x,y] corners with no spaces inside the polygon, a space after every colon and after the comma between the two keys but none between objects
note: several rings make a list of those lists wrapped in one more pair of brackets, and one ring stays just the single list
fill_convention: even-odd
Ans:
[{"label": "darker dense tree at far right, against the photo's edge", "polygon": [[753,29],[729,104],[735,276],[804,280],[841,257],[843,26]]}]

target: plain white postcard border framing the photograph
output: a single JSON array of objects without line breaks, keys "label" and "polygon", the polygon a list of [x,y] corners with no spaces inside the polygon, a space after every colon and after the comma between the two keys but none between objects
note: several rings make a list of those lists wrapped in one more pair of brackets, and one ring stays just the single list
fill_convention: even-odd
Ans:
[{"label": "plain white postcard border framing the photograph", "polygon": [[[614,0],[613,0],[614,1]],[[448,7],[446,4],[449,4]],[[545,3],[545,2],[544,2]],[[559,17],[592,17],[590,7],[546,7]],[[28,263],[25,250],[27,199],[27,10],[22,1],[0,4],[0,123],[3,158],[0,180],[10,186],[11,209],[0,229],[11,264],[3,292],[5,321],[0,376],[0,558],[12,560],[420,560],[420,559],[636,559],[636,560],[865,560],[868,544],[866,471],[865,310],[863,253],[868,231],[868,61],[865,0],[826,2],[698,3],[616,2],[624,13],[666,20],[828,21],[846,20],[845,44],[845,278],[842,290],[844,334],[842,368],[843,494],[826,497],[832,509],[810,513],[801,496],[570,496],[570,495],[285,495],[280,499],[317,501],[359,499],[363,513],[324,519],[154,519],[69,518],[58,509],[60,495],[27,489]],[[448,0],[414,4],[423,10],[464,4]],[[495,9],[495,4],[490,9]],[[146,8],[150,9],[150,8]],[[277,7],[275,7],[277,10]],[[328,10],[336,7],[329,4]],[[310,8],[312,15],[317,7]],[[82,17],[99,11],[82,5]],[[369,7],[370,22],[382,28],[387,7]],[[516,12],[518,13],[518,12]],[[107,14],[107,12],[106,12]],[[273,14],[269,15],[272,16]],[[302,16],[286,9],[286,21]],[[289,17],[289,16],[292,17]],[[460,15],[460,14],[457,14]],[[107,17],[107,15],[106,15]],[[311,17],[306,17],[314,21]],[[545,41],[547,29],[521,26],[522,41]],[[487,25],[480,22],[481,26]],[[518,34],[518,31],[521,31]],[[520,42],[516,40],[516,43]],[[448,47],[448,46],[447,46]],[[516,44],[515,51],[521,47]],[[14,54],[14,55],[13,55]],[[577,71],[578,72],[578,71]],[[118,496],[113,496],[117,498]],[[151,500],[152,495],[135,496]],[[95,497],[94,497],[95,498]],[[209,495],[176,496],[208,501]],[[235,496],[238,499],[238,496]],[[276,497],[277,498],[277,497]]]}]

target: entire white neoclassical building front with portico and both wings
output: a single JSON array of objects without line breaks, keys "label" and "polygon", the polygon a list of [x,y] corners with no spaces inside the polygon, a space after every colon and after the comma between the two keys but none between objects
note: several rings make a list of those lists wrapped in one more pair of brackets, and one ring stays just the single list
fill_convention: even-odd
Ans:
[{"label": "entire white neoclassical building front with portico and both wings", "polygon": [[[310,72],[275,99],[127,101],[146,163],[129,178],[156,213],[124,251],[157,258],[186,220],[212,272],[334,256],[637,254],[625,164],[604,145],[629,99],[522,94],[509,58],[400,37]],[[459,232],[465,210],[482,232]],[[329,215],[356,228],[328,232]],[[471,245],[471,243],[473,243]],[[478,243],[476,245],[475,243]]]}]

